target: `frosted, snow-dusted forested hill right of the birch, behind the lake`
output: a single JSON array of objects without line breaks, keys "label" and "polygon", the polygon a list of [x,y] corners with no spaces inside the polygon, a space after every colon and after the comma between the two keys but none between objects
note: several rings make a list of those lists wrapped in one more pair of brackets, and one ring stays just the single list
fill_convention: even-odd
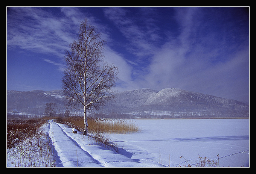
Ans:
[{"label": "frosted, snow-dusted forested hill right of the birch, behind the lake", "polygon": [[245,103],[213,95],[167,88],[120,92],[102,112],[168,117],[249,117]]}]

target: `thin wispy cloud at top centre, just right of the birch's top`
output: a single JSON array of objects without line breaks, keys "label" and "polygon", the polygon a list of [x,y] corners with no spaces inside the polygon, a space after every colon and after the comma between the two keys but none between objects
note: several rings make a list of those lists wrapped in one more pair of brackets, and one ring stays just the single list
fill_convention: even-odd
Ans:
[{"label": "thin wispy cloud at top centre, just right of the birch's top", "polygon": [[146,11],[143,9],[133,8],[132,11],[129,8],[117,7],[104,9],[105,16],[113,21],[126,38],[126,49],[137,56],[152,54],[160,38],[159,28],[149,15],[150,8]]}]

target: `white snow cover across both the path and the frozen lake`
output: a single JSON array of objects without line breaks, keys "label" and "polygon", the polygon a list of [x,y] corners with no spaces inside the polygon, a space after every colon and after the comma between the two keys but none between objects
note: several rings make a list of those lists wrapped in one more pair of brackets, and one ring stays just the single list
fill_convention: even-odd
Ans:
[{"label": "white snow cover across both the path and the frozen lake", "polygon": [[[108,134],[118,152],[97,145],[72,128],[49,121],[57,167],[177,167],[192,166],[198,155],[219,166],[249,166],[249,119],[133,120],[141,132]],[[180,158],[180,156],[183,156]],[[186,160],[187,161],[186,161]],[[7,161],[7,166],[12,166]]]}]

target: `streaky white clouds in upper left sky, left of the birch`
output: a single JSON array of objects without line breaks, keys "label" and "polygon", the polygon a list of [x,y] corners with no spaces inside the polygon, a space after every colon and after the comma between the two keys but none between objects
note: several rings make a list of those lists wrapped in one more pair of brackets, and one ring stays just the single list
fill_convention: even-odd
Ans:
[{"label": "streaky white clouds in upper left sky, left of the birch", "polygon": [[75,37],[65,15],[53,15],[41,8],[18,7],[7,12],[7,48],[15,47],[38,53],[64,55]]}]

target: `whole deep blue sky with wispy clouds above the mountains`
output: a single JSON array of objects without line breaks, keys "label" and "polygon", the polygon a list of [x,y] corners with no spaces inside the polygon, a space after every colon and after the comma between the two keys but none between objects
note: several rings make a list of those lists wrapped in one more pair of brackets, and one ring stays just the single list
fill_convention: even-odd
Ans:
[{"label": "whole deep blue sky with wispy clouds above the mountains", "polygon": [[119,91],[180,88],[249,102],[249,8],[8,7],[7,90],[61,89],[85,18],[102,33]]}]

